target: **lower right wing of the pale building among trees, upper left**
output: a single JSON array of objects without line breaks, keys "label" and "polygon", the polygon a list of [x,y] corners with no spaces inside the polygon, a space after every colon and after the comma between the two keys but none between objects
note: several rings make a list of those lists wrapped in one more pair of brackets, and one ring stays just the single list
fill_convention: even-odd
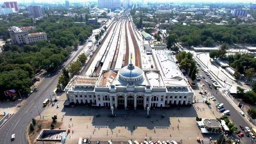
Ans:
[{"label": "lower right wing of the pale building among trees, upper left", "polygon": [[33,44],[38,42],[39,40],[47,41],[48,39],[45,32],[35,32],[24,36],[24,40],[26,44]]}]

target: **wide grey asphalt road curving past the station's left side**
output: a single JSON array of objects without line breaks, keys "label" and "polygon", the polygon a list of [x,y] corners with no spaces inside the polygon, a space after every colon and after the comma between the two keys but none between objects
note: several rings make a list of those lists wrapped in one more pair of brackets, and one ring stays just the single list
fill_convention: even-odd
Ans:
[{"label": "wide grey asphalt road curving past the station's left side", "polygon": [[[86,45],[86,44],[85,44]],[[68,60],[62,66],[67,67],[78,54],[82,51],[83,46],[79,46],[78,50],[72,52]],[[62,74],[62,70],[52,73],[49,77],[38,85],[38,89],[26,99],[25,104],[16,112],[3,126],[0,128],[0,144],[28,144],[26,139],[26,127],[31,122],[32,118],[39,115],[44,107],[42,102],[46,98],[50,99],[49,92],[52,96],[52,91],[56,88],[58,77]],[[38,108],[38,110],[37,110]],[[11,135],[15,134],[16,138],[11,142]]]}]

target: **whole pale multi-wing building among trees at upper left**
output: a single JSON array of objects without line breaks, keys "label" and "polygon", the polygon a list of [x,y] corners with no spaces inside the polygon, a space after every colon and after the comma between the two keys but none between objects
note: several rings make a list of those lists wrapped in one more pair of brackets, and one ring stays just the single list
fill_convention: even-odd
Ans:
[{"label": "whole pale multi-wing building among trees at upper left", "polygon": [[[22,30],[23,29],[23,30]],[[28,30],[35,30],[34,26],[22,27],[11,26],[9,34],[12,44],[33,44],[39,40],[47,41],[47,34],[45,32],[28,33]]]}]

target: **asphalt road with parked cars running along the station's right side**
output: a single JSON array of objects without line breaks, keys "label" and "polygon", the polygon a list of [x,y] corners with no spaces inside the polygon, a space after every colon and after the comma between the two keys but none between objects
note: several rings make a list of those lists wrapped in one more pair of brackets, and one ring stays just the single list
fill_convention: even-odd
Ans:
[{"label": "asphalt road with parked cars running along the station's right side", "polygon": [[[206,88],[206,90],[209,92],[212,92],[214,95],[214,97],[216,98],[216,103],[223,103],[224,104],[224,108],[226,110],[230,110],[230,115],[229,115],[229,118],[230,118],[230,121],[233,121],[234,120],[234,124],[235,126],[238,128],[238,131],[241,131],[243,132],[243,130],[241,130],[241,128],[239,127],[239,125],[242,125],[242,126],[248,126],[250,128],[250,126],[246,123],[246,121],[244,120],[244,116],[242,116],[239,112],[237,112],[233,106],[228,102],[228,100],[226,100],[226,98],[224,98],[224,96],[222,96],[220,94],[220,91],[218,90],[215,90],[214,88],[210,89],[208,84],[205,82],[205,80],[207,80],[210,84],[212,84],[212,80],[210,80],[208,78],[208,76],[206,76],[206,74],[204,74],[204,72],[198,67],[199,69],[199,72],[198,72],[198,76],[202,75],[205,77],[205,79],[201,78],[200,80],[200,84],[205,84],[204,88]],[[215,78],[214,78],[215,79]],[[217,92],[217,94],[216,94]],[[212,108],[215,108],[215,106],[212,106]],[[237,136],[237,138],[239,138]],[[242,137],[241,139],[241,142],[243,144],[250,144],[250,140],[251,140],[251,137],[248,138],[245,134],[244,134],[244,137]]]}]

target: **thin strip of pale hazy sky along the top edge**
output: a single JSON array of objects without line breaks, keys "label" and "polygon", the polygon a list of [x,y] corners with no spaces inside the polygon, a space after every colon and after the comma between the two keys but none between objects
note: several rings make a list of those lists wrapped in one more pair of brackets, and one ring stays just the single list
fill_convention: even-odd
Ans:
[{"label": "thin strip of pale hazy sky along the top edge", "polygon": [[[17,1],[17,2],[32,2],[32,0],[0,0],[4,1]],[[88,2],[88,1],[98,1],[98,0],[69,0],[70,2]],[[122,0],[121,0],[122,1]],[[142,0],[132,0],[139,1]],[[256,0],[144,0],[144,2],[255,2]],[[47,3],[64,3],[65,0],[34,0],[34,2],[47,2]]]}]

